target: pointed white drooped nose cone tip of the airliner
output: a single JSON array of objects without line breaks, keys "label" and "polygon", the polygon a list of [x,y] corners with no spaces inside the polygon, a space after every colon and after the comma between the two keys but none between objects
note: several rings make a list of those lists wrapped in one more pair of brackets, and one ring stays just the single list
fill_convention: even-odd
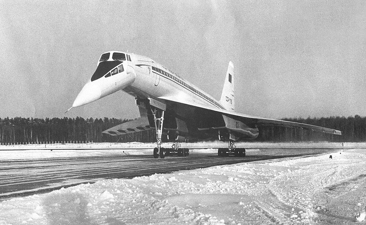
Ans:
[{"label": "pointed white drooped nose cone tip of the airliner", "polygon": [[88,82],[81,89],[79,95],[76,97],[72,107],[83,106],[85,104],[94,102],[102,96],[100,88],[94,82]]}]

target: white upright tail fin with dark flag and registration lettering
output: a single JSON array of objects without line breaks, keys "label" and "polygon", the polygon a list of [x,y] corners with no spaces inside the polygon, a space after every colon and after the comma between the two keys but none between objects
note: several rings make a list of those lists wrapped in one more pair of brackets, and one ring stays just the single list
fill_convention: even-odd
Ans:
[{"label": "white upright tail fin with dark flag and registration lettering", "polygon": [[229,111],[234,111],[234,64],[229,62],[228,71],[226,72],[226,78],[224,82],[223,93],[220,99],[221,105]]}]

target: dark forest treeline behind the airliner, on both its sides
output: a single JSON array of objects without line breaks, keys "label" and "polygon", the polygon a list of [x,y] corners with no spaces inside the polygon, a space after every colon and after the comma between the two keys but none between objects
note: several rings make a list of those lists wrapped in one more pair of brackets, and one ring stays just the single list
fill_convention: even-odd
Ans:
[{"label": "dark forest treeline behind the airliner, on both its sides", "polygon": [[[283,118],[286,121],[306,123],[340,130],[342,136],[281,126],[258,126],[259,136],[253,141],[337,141],[361,142],[366,140],[366,117]],[[154,130],[120,136],[103,134],[113,126],[130,121],[116,118],[0,118],[0,143],[52,142],[154,142]]]}]

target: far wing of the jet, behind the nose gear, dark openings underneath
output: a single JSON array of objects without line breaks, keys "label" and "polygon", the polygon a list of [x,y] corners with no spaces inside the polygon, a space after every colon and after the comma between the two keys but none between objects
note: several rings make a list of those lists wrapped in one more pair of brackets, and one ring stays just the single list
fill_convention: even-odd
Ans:
[{"label": "far wing of the jet, behind the nose gear, dark openings underneath", "polygon": [[149,120],[146,117],[128,121],[120,125],[104,130],[102,133],[109,134],[112,136],[134,133],[142,130],[151,130],[153,128],[149,125]]}]

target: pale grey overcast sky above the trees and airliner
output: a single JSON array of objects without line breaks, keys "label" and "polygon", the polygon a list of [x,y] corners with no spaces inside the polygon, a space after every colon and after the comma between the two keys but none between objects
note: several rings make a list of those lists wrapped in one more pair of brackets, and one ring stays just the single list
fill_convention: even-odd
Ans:
[{"label": "pale grey overcast sky above the trees and airliner", "polygon": [[73,108],[100,54],[149,56],[270,118],[366,116],[365,1],[1,1],[0,117],[137,118],[120,91]]}]

